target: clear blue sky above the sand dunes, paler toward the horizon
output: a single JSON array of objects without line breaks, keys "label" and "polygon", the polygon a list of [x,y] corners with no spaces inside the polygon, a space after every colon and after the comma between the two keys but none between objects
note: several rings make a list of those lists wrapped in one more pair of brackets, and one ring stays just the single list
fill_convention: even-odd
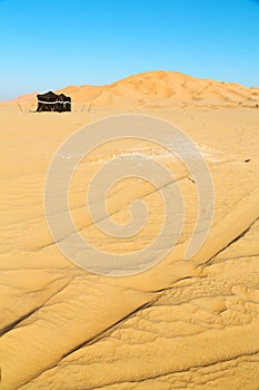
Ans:
[{"label": "clear blue sky above the sand dunes, paler toward the horizon", "polygon": [[259,1],[0,0],[0,99],[158,69],[259,86]]}]

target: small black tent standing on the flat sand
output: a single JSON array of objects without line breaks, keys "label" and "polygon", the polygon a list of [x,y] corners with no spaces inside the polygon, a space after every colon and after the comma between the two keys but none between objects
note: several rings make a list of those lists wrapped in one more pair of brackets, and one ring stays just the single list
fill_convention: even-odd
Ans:
[{"label": "small black tent standing on the flat sand", "polygon": [[63,94],[56,95],[52,91],[49,91],[43,95],[37,95],[38,98],[38,108],[37,111],[71,111],[71,98]]}]

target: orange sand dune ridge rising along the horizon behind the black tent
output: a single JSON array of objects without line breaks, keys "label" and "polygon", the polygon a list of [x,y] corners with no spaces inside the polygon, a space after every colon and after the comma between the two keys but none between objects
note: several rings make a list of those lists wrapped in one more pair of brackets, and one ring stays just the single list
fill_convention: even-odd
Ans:
[{"label": "orange sand dune ridge rising along the horizon behind the black tent", "polygon": [[[127,77],[107,86],[70,86],[58,90],[72,97],[73,103],[93,107],[195,106],[236,107],[259,105],[258,88],[233,82],[197,79],[170,71],[150,71]],[[37,94],[12,100],[36,106]]]}]

